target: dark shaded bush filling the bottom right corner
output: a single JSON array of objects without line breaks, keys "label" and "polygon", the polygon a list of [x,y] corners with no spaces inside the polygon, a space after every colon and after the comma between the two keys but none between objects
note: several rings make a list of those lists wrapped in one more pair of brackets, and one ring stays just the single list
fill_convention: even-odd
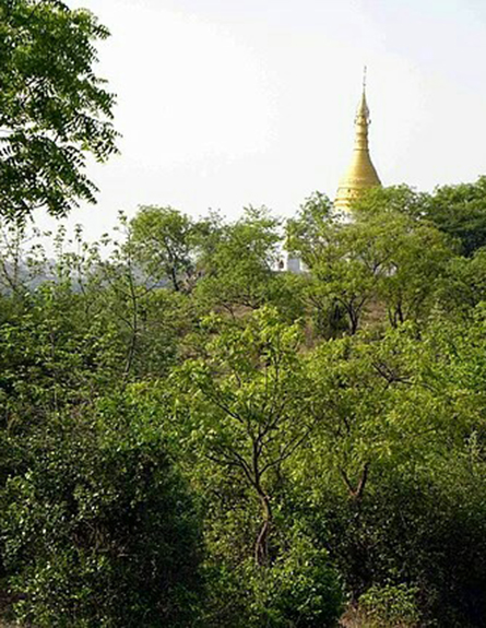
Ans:
[{"label": "dark shaded bush filling the bottom right corner", "polygon": [[451,452],[431,464],[413,475],[377,470],[358,509],[347,496],[327,493],[313,516],[315,533],[353,600],[379,603],[383,611],[393,596],[399,604],[417,586],[420,625],[484,627],[483,463]]}]

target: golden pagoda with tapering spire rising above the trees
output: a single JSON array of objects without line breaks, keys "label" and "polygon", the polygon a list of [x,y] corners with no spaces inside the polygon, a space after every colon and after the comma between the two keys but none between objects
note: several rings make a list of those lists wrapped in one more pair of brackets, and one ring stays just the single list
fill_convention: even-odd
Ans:
[{"label": "golden pagoda with tapering spire rising above the trees", "polygon": [[366,103],[366,68],[363,81],[363,95],[355,118],[355,144],[353,158],[346,174],[340,181],[334,201],[336,210],[349,211],[351,203],[368,188],[381,186],[380,178],[372,165],[368,147],[369,109]]}]

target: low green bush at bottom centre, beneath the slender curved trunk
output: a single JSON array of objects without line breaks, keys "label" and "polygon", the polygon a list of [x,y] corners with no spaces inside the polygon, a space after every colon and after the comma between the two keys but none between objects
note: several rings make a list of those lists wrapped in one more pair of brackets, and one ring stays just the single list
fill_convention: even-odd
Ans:
[{"label": "low green bush at bottom centre, beneath the slender curved trunk", "polygon": [[343,609],[343,590],[325,549],[301,533],[270,566],[244,560],[232,570],[209,571],[210,599],[201,626],[332,628]]}]

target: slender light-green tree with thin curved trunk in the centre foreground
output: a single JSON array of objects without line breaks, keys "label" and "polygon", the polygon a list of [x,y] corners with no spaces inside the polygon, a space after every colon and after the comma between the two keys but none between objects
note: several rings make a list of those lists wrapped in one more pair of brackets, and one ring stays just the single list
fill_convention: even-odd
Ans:
[{"label": "slender light-green tree with thin curved trunk in the centre foreground", "polygon": [[242,329],[223,324],[204,357],[182,369],[190,392],[191,425],[213,463],[237,470],[258,498],[261,525],[254,559],[269,565],[274,526],[272,477],[309,437],[316,417],[299,359],[300,330],[271,308],[257,311]]}]

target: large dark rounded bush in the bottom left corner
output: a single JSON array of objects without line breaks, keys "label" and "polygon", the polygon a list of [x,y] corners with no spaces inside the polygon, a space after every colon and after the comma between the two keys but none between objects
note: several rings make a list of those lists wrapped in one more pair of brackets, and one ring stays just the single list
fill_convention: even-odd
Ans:
[{"label": "large dark rounded bush in the bottom left corner", "polygon": [[[133,406],[134,407],[134,406]],[[121,401],[52,419],[2,495],[15,612],[38,627],[188,626],[199,517],[159,430]]]}]

